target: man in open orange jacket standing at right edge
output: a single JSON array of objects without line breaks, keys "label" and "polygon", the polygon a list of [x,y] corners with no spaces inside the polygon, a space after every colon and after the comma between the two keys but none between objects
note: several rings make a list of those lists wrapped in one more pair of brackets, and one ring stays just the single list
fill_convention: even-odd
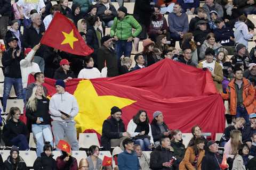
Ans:
[{"label": "man in open orange jacket standing at right edge", "polygon": [[255,112],[255,89],[249,80],[243,78],[240,68],[234,69],[235,79],[227,87],[227,94],[221,94],[224,100],[230,100],[230,114],[244,117],[249,123],[249,114]]}]

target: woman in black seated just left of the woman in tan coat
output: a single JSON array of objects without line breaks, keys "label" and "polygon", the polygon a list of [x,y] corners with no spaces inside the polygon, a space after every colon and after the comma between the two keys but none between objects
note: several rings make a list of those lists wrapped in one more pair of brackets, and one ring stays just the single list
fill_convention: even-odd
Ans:
[{"label": "woman in black seated just left of the woman in tan coat", "polygon": [[185,155],[185,145],[182,143],[182,133],[178,129],[172,131],[171,147],[175,158],[177,158],[176,163],[179,165]]}]

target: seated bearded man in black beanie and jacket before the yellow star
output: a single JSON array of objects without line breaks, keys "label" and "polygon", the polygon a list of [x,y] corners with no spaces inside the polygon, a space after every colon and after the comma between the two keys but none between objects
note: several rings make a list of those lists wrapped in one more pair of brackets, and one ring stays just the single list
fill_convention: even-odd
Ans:
[{"label": "seated bearded man in black beanie and jacket before the yellow star", "polygon": [[111,117],[103,122],[101,145],[104,150],[109,150],[111,147],[122,147],[122,142],[125,138],[130,138],[130,134],[125,132],[123,123],[122,110],[114,106],[111,108]]}]

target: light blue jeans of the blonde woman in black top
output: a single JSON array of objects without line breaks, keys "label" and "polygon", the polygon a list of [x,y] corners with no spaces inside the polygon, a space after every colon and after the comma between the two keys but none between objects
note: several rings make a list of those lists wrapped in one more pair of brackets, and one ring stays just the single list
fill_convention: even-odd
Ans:
[{"label": "light blue jeans of the blonde woman in black top", "polygon": [[41,156],[44,147],[44,141],[51,142],[53,147],[53,137],[50,124],[33,124],[32,132],[36,139],[36,155]]}]

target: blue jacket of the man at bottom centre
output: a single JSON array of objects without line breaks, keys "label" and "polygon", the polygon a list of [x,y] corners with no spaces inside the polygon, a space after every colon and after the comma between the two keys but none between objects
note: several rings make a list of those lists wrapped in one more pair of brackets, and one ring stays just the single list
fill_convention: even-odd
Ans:
[{"label": "blue jacket of the man at bottom centre", "polygon": [[139,170],[140,163],[135,152],[129,154],[126,150],[118,155],[117,158],[119,170]]}]

